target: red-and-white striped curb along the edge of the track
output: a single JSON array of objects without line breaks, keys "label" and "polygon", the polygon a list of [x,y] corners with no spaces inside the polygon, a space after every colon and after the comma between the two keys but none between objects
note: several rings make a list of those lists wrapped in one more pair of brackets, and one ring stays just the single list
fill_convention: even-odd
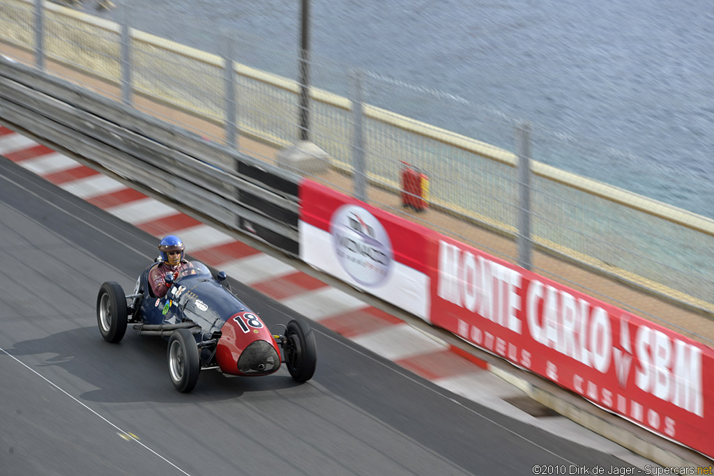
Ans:
[{"label": "red-and-white striped curb along the edge of the track", "polygon": [[[326,285],[223,231],[1,126],[0,156],[156,238],[168,234],[180,237],[193,258],[226,271],[236,280],[441,388],[583,443],[586,430],[574,422],[564,417],[536,418],[506,402],[505,399],[525,394],[494,375],[498,372],[496,368],[354,295]],[[602,440],[594,433],[588,434]],[[598,443],[603,445],[604,441]]]}]

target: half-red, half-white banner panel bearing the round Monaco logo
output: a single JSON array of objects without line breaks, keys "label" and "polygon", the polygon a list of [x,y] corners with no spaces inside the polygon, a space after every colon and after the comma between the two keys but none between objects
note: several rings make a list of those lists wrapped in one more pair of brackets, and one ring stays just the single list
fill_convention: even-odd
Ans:
[{"label": "half-red, half-white banner panel bearing the round Monaco logo", "polygon": [[428,318],[431,230],[309,180],[299,198],[301,260]]}]

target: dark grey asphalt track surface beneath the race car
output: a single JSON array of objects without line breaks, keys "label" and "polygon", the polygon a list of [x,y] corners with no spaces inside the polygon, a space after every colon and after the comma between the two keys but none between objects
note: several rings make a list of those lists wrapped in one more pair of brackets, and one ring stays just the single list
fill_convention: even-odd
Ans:
[{"label": "dark grey asphalt track surface beneath the race car", "polygon": [[[176,392],[166,343],[96,326],[105,280],[129,293],[156,239],[0,158],[0,475],[530,475],[626,465],[512,420],[313,324],[298,385],[201,374]],[[233,282],[271,327],[290,309]],[[279,332],[279,330],[278,330]]]}]

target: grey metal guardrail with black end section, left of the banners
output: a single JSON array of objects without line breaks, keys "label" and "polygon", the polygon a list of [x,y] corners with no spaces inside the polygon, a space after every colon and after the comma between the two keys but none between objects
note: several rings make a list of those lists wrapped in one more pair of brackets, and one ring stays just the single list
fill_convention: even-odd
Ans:
[{"label": "grey metal guardrail with black end section, left of the banners", "polygon": [[0,118],[45,142],[298,256],[298,179],[0,57]]}]

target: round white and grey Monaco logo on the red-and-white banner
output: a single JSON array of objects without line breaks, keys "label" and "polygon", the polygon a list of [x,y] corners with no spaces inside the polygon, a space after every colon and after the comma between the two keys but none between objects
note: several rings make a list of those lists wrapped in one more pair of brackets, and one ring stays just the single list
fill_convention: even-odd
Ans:
[{"label": "round white and grey Monaco logo on the red-and-white banner", "polygon": [[335,253],[347,274],[357,283],[376,286],[389,275],[392,243],[374,216],[356,205],[343,205],[330,219]]}]

